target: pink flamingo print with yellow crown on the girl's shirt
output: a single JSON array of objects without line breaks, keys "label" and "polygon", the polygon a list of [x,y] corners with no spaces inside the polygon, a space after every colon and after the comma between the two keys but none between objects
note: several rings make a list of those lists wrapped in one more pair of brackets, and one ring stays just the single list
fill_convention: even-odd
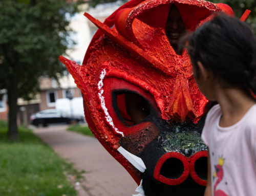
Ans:
[{"label": "pink flamingo print with yellow crown on the girl's shirt", "polygon": [[219,158],[219,163],[218,165],[215,165],[215,171],[214,171],[214,178],[218,178],[217,182],[214,185],[214,196],[229,196],[222,190],[216,190],[217,185],[222,181],[223,178],[223,164],[224,164],[225,159],[223,157]]}]

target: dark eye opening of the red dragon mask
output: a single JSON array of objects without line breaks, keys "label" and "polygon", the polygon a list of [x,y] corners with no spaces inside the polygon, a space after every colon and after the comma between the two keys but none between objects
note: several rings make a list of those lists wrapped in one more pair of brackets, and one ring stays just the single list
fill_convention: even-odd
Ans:
[{"label": "dark eye opening of the red dragon mask", "polygon": [[125,121],[127,125],[139,124],[150,115],[150,104],[142,96],[132,92],[117,92],[116,95],[116,109],[118,109],[116,114],[119,118],[121,117],[121,120]]}]

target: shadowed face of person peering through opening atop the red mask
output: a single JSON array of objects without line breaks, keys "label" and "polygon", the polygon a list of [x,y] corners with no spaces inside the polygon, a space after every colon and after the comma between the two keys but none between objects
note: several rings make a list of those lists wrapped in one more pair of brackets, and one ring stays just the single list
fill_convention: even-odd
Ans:
[{"label": "shadowed face of person peering through opening atop the red mask", "polygon": [[186,32],[186,28],[181,18],[180,12],[175,5],[172,5],[170,8],[165,32],[169,39],[170,45],[177,53],[179,40]]}]

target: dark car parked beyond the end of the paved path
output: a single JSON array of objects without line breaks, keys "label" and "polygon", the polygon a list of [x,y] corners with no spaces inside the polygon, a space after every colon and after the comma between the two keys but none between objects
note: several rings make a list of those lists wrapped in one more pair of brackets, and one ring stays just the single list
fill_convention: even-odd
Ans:
[{"label": "dark car parked beyond the end of the paved path", "polygon": [[70,117],[70,115],[57,111],[55,109],[43,110],[30,116],[30,124],[37,127],[47,126],[51,123],[67,123],[71,124],[71,121],[83,121],[83,117]]}]

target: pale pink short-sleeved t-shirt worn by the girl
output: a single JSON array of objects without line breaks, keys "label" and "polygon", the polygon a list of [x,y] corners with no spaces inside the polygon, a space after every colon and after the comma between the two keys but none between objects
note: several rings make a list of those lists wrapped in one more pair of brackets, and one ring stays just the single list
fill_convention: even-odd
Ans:
[{"label": "pale pink short-sleeved t-shirt worn by the girl", "polygon": [[202,140],[209,147],[213,196],[256,195],[256,104],[229,127],[220,127],[220,105],[207,114]]}]

